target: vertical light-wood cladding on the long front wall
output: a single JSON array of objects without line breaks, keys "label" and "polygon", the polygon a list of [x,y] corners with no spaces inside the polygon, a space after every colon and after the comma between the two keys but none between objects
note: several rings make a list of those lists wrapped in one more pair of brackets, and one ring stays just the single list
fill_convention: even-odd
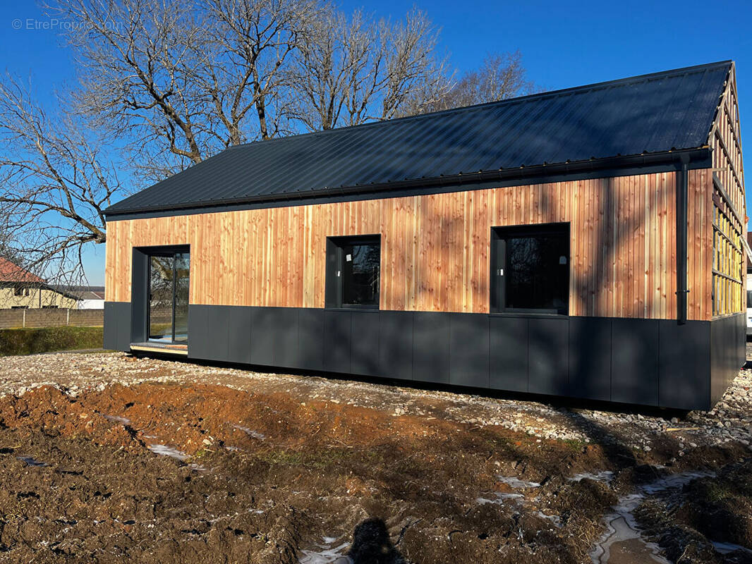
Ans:
[{"label": "vertical light-wood cladding on the long front wall", "polygon": [[[711,317],[709,170],[689,179],[688,317]],[[570,222],[569,313],[676,316],[675,173],[108,223],[109,302],[132,247],[190,244],[190,303],[323,308],[326,237],[381,234],[381,309],[489,311],[492,226]]]}]

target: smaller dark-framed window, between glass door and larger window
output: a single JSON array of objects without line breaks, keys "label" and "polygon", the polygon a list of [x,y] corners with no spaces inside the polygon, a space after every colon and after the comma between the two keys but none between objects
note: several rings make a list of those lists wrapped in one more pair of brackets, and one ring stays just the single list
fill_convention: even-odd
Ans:
[{"label": "smaller dark-framed window, between glass door and larger window", "polygon": [[326,240],[326,307],[378,309],[381,235]]}]

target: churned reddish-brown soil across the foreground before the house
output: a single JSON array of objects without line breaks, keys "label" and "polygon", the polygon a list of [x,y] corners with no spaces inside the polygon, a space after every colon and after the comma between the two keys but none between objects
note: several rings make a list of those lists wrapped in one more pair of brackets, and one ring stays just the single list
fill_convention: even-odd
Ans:
[{"label": "churned reddish-brown soil across the foreground before the house", "polygon": [[[271,564],[340,545],[359,564],[589,562],[617,493],[654,475],[645,462],[717,468],[747,452],[705,446],[670,462],[671,441],[647,455],[536,438],[459,422],[449,399],[396,414],[258,388],[45,386],[0,399],[0,562]],[[567,479],[601,470],[616,472],[613,487]]]}]

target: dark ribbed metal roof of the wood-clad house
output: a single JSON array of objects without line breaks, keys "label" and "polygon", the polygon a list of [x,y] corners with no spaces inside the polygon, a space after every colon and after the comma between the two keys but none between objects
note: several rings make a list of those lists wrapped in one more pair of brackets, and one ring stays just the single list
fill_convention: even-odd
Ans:
[{"label": "dark ribbed metal roof of the wood-clad house", "polygon": [[332,196],[358,186],[705,147],[731,65],[239,145],[105,213]]}]

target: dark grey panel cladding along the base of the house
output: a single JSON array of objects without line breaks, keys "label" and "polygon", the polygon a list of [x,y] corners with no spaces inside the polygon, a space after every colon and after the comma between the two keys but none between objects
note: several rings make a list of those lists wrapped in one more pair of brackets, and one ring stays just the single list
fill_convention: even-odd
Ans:
[{"label": "dark grey panel cladding along the base of the house", "polygon": [[[744,314],[713,321],[190,305],[188,357],[678,409],[744,364]],[[105,304],[129,350],[131,305]]]}]

